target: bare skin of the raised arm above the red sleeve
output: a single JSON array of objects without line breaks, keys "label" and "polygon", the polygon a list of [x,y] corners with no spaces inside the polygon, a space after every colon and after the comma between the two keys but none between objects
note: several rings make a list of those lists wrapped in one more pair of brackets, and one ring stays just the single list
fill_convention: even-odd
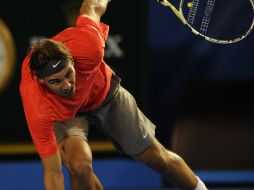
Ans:
[{"label": "bare skin of the raised arm above the red sleeve", "polygon": [[84,0],[80,8],[80,15],[100,21],[101,16],[107,9],[109,0]]}]

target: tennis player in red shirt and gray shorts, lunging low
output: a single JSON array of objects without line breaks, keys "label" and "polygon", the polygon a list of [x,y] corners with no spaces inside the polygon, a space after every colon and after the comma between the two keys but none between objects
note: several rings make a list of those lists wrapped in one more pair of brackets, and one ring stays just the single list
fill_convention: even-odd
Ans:
[{"label": "tennis player in red shirt and gray shorts, lunging low", "polygon": [[103,61],[109,27],[100,22],[108,0],[85,0],[75,27],[35,43],[22,65],[20,93],[40,155],[46,190],[63,190],[62,163],[73,190],[100,190],[87,142],[97,125],[120,153],[158,171],[181,189],[204,190],[184,160],[155,138],[120,78]]}]

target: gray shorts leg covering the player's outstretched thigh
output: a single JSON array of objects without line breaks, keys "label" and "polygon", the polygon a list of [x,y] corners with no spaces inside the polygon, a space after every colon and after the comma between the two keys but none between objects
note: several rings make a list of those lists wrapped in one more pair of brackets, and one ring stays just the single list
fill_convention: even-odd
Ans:
[{"label": "gray shorts leg covering the player's outstretched thigh", "polygon": [[134,97],[121,86],[111,102],[95,115],[99,127],[121,153],[135,156],[153,141],[155,125],[140,111]]}]

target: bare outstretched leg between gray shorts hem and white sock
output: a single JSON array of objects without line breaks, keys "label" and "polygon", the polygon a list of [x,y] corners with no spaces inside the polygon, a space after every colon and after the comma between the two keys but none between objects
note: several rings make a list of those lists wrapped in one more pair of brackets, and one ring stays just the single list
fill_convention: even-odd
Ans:
[{"label": "bare outstretched leg between gray shorts hem and white sock", "polygon": [[135,159],[158,171],[165,179],[181,189],[193,190],[197,186],[198,179],[184,160],[164,148],[156,139]]}]

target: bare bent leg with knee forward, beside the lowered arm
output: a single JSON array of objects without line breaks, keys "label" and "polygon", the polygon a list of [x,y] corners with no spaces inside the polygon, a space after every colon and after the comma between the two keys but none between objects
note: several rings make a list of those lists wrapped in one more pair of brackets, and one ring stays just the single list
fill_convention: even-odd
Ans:
[{"label": "bare bent leg with knee forward, beside the lowered arm", "polygon": [[61,158],[70,173],[72,190],[103,189],[93,172],[91,149],[83,138],[66,138],[60,144],[60,150]]}]

